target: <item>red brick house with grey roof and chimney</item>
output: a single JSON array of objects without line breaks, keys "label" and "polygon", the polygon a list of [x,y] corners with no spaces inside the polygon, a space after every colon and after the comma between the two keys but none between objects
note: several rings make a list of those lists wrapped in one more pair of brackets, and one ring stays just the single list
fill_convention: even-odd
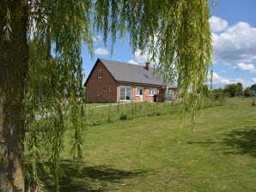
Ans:
[{"label": "red brick house with grey roof and chimney", "polygon": [[176,87],[145,66],[98,58],[84,83],[87,102],[153,102],[154,95],[174,99]]}]

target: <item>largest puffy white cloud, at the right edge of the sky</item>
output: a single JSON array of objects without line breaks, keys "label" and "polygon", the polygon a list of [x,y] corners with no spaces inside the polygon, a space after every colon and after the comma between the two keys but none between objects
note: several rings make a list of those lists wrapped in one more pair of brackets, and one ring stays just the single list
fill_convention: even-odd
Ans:
[{"label": "largest puffy white cloud, at the right edge of the sky", "polygon": [[256,59],[256,28],[239,22],[220,34],[212,33],[214,63],[251,63]]}]

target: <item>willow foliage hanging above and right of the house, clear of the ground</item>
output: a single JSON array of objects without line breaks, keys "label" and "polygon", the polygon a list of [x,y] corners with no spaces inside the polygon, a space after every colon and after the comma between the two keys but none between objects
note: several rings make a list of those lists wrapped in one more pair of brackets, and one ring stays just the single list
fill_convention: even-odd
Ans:
[{"label": "willow foliage hanging above and right of the house, clear of the ground", "polygon": [[121,38],[129,33],[133,51],[149,52],[168,81],[177,80],[181,108],[191,108],[194,119],[211,63],[207,1],[105,0],[95,6],[95,27],[104,39],[111,33],[114,42],[117,32]]}]

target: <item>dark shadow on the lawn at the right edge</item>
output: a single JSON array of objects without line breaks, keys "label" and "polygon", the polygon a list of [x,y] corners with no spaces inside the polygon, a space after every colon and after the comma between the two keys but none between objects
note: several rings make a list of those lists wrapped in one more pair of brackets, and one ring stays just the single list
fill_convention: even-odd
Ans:
[{"label": "dark shadow on the lawn at the right edge", "polygon": [[229,147],[224,154],[248,154],[256,157],[256,126],[227,133],[223,144]]}]

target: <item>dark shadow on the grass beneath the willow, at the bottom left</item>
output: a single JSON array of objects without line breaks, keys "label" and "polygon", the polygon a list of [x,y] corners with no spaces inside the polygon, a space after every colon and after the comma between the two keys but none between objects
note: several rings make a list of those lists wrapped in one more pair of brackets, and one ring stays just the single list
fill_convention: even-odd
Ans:
[{"label": "dark shadow on the grass beneath the willow, at the bottom left", "polygon": [[[123,183],[122,179],[141,177],[148,172],[141,170],[124,171],[111,165],[81,166],[78,168],[69,160],[65,160],[61,166],[64,177],[60,180],[60,191],[65,192],[118,190],[127,184]],[[48,183],[47,189],[53,191],[54,187]]]}]

